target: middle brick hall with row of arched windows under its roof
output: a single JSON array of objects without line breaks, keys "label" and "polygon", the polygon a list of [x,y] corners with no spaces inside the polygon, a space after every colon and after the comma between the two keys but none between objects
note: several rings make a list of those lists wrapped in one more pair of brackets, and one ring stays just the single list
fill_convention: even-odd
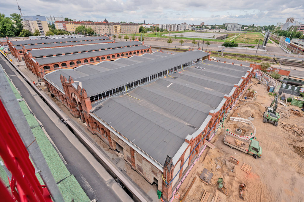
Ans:
[{"label": "middle brick hall with row of arched windows under its roof", "polygon": [[43,78],[43,75],[57,69],[74,69],[83,64],[96,64],[150,52],[151,47],[139,41],[130,41],[32,50],[26,51],[24,58],[29,70]]}]

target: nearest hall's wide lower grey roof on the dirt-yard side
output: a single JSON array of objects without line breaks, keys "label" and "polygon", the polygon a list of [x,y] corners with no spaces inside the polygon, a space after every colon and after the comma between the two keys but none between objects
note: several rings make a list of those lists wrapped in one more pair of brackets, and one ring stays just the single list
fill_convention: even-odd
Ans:
[{"label": "nearest hall's wide lower grey roof on the dirt-yard side", "polygon": [[[183,57],[182,54],[176,56]],[[164,165],[167,155],[176,154],[185,137],[202,125],[209,111],[218,107],[224,95],[229,94],[250,69],[211,61],[204,63],[171,75],[175,78],[160,78],[135,88],[129,94],[139,100],[128,95],[112,97],[92,113]]]}]

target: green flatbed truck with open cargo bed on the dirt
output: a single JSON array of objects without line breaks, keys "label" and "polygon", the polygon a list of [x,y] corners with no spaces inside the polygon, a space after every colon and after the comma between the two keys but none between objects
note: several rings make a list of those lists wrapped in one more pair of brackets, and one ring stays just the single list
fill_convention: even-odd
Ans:
[{"label": "green flatbed truck with open cargo bed on the dirt", "polygon": [[250,154],[255,159],[257,157],[261,158],[262,156],[262,148],[260,147],[260,143],[256,140],[244,140],[237,136],[230,135],[228,132],[226,132],[226,135],[224,137],[224,144],[229,145],[231,148],[240,150],[241,152]]}]

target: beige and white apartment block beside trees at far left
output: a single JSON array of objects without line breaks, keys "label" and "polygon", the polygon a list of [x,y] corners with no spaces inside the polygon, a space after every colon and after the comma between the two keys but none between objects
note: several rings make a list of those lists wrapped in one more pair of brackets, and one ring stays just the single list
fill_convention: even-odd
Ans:
[{"label": "beige and white apartment block beside trees at far left", "polygon": [[49,31],[49,26],[47,25],[47,19],[44,16],[21,16],[23,19],[23,29],[29,30],[34,33],[35,29],[38,29],[41,36],[45,36],[45,33]]}]

